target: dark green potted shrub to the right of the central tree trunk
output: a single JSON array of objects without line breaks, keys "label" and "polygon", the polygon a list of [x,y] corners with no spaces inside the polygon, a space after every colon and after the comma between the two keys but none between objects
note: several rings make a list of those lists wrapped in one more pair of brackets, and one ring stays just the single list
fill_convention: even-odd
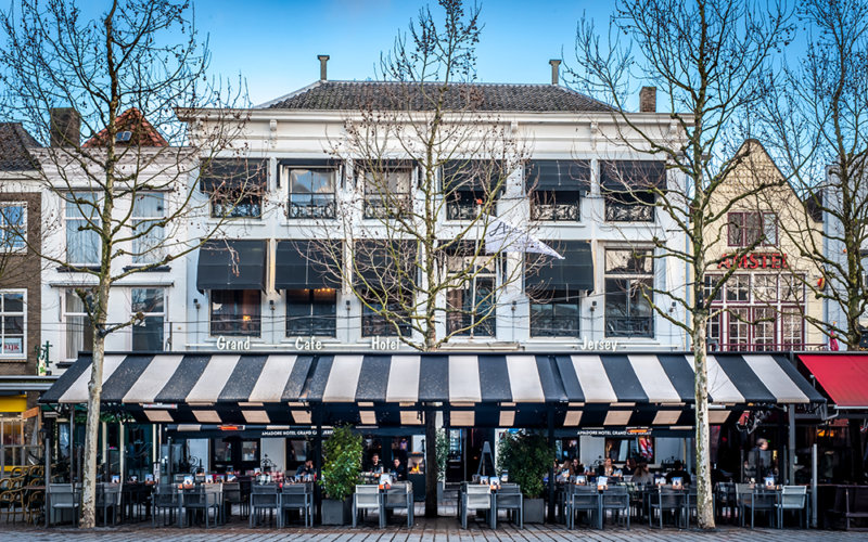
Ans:
[{"label": "dark green potted shrub to the right of the central tree trunk", "polygon": [[497,456],[498,469],[507,472],[509,481],[518,483],[524,501],[524,522],[545,521],[542,478],[549,472],[554,451],[539,434],[522,431],[506,434]]}]

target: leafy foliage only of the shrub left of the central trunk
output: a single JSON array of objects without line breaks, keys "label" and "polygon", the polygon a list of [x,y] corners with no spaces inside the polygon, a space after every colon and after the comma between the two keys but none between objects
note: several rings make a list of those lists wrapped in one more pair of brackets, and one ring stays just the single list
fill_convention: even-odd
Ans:
[{"label": "leafy foliage only of the shrub left of the central trunk", "polygon": [[361,435],[352,426],[335,427],[322,443],[322,479],[319,485],[328,499],[343,501],[353,494],[361,472]]}]

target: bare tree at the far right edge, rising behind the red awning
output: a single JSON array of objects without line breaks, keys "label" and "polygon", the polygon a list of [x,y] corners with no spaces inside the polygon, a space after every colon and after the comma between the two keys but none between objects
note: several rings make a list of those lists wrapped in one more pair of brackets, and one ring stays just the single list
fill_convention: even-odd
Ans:
[{"label": "bare tree at the far right edge, rising behind the red awning", "polygon": [[[806,202],[783,234],[818,264],[809,293],[830,308],[808,315],[827,336],[857,348],[868,309],[868,2],[808,0],[799,17],[810,29],[806,53],[766,78],[755,112],[769,151]],[[812,218],[826,223],[816,232]],[[819,233],[819,234],[817,234]]]}]

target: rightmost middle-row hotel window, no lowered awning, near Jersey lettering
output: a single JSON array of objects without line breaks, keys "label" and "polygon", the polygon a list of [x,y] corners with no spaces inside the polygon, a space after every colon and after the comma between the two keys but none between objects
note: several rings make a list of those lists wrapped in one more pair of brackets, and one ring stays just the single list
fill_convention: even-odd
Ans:
[{"label": "rightmost middle-row hotel window, no lowered awning, near Jersey lettering", "polygon": [[605,251],[607,337],[653,337],[653,271],[650,249]]}]

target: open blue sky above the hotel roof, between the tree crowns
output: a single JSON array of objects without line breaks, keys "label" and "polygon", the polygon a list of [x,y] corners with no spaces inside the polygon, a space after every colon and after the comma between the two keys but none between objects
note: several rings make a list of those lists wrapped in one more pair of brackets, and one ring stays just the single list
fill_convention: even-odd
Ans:
[{"label": "open blue sky above the hotel roof, between the tree crowns", "polygon": [[[414,0],[199,0],[195,21],[208,34],[212,72],[243,75],[258,104],[319,78],[318,54],[328,54],[330,79],[374,76],[380,52],[406,30]],[[432,8],[436,2],[432,2]],[[567,60],[583,12],[605,24],[607,0],[488,0],[477,48],[478,78],[486,82],[549,82],[549,59]]]}]

